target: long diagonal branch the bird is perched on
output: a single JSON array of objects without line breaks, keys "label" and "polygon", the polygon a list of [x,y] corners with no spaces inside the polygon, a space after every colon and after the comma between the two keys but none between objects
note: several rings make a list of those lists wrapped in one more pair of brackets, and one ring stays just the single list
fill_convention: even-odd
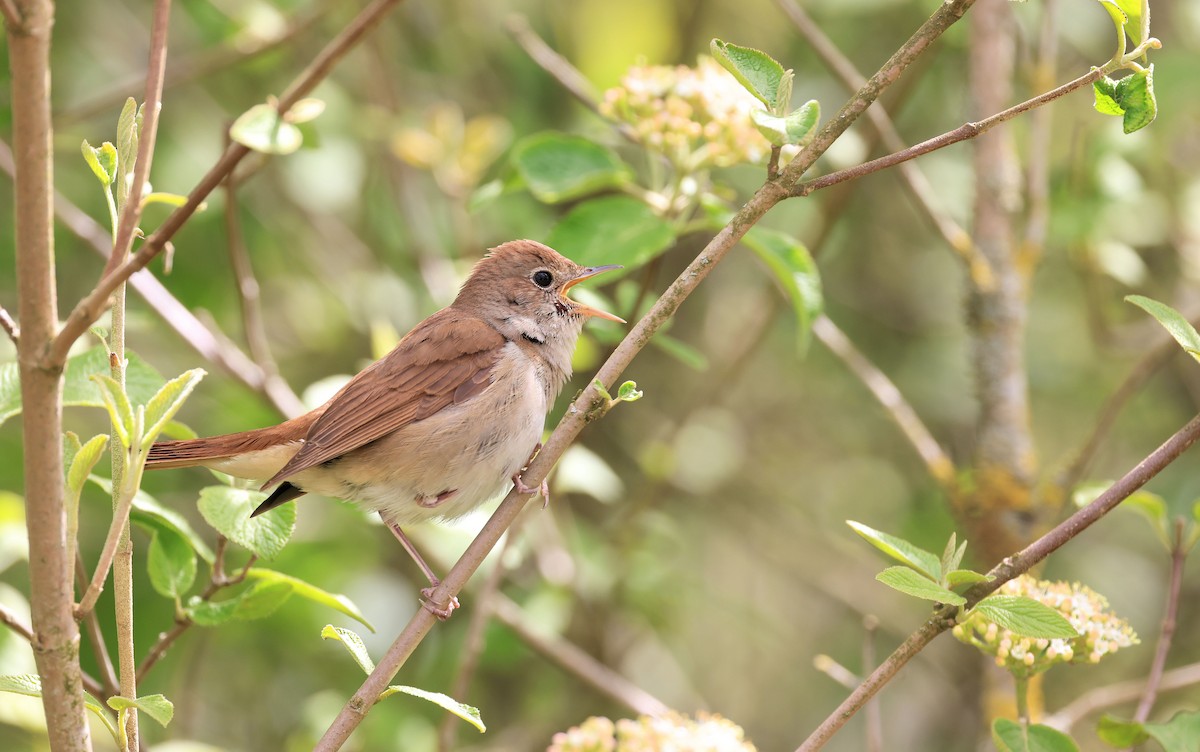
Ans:
[{"label": "long diagonal branch the bird is perched on", "polygon": [[[606,387],[616,384],[624,369],[632,362],[634,357],[649,342],[650,337],[662,326],[674,312],[683,305],[683,301],[700,285],[708,273],[725,258],[731,248],[743,235],[766,215],[772,207],[790,194],[787,186],[793,184],[812,163],[829,148],[856,118],[875,100],[892,82],[896,79],[905,66],[910,65],[919,56],[929,43],[942,31],[948,29],[968,8],[974,0],[952,0],[938,7],[929,22],[905,43],[901,49],[892,56],[884,68],[871,77],[868,86],[858,92],[842,107],[839,116],[830,120],[812,143],[802,151],[780,178],[768,181],[760,187],[755,194],[739,209],[728,224],[725,225],[701,251],[700,255],[688,265],[674,282],[655,301],[650,311],[634,326],[625,338],[617,345],[613,354],[605,361],[596,378],[576,397],[568,408],[566,415],[559,421],[553,433],[547,439],[545,446],[530,463],[522,481],[529,485],[538,485],[546,477],[550,469],[575,438],[583,431],[583,427],[600,419],[607,409],[608,401],[596,390],[599,381]],[[472,541],[470,546],[458,559],[458,563],[450,570],[445,579],[434,588],[430,600],[434,603],[445,603],[456,596],[466,584],[467,579],[475,572],[487,553],[496,546],[504,531],[512,524],[520,515],[528,499],[515,492],[510,492],[500,503],[496,512]],[[418,609],[409,620],[404,630],[396,637],[391,646],[376,666],[376,669],[367,676],[362,686],[346,703],[341,712],[325,730],[320,741],[317,742],[316,752],[332,752],[349,739],[350,734],[370,712],[376,698],[384,690],[396,672],[404,664],[408,656],[416,649],[416,645],[433,628],[434,616],[428,609]]]}]

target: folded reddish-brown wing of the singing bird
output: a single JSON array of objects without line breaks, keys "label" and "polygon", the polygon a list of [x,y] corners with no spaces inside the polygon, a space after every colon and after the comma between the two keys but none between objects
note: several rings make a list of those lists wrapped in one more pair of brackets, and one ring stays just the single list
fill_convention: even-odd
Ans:
[{"label": "folded reddish-brown wing of the singing bird", "polygon": [[470,399],[491,384],[503,345],[475,317],[434,313],[334,396],[300,451],[263,488]]}]

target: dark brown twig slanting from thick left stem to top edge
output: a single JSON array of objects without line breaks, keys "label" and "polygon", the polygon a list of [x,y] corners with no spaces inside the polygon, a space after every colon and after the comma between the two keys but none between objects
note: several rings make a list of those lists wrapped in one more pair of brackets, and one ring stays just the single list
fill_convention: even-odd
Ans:
[{"label": "dark brown twig slanting from thick left stem to top edge", "polygon": [[[325,76],[329,74],[334,65],[342,59],[361,38],[373,29],[379,20],[401,0],[374,0],[360,12],[308,65],[307,68],[280,95],[278,112],[286,113],[301,97],[312,91]],[[184,205],[173,211],[162,225],[146,237],[142,247],[127,261],[121,264],[110,275],[106,275],[83,300],[80,300],[71,314],[67,317],[62,329],[48,348],[43,361],[49,366],[66,362],[66,354],[76,339],[82,336],[88,327],[100,317],[104,309],[109,295],[116,287],[130,278],[133,272],[145,267],[157,257],[175,233],[187,222],[200,203],[221,185],[241,160],[250,154],[250,149],[241,144],[233,144],[226,149],[209,172],[200,179],[192,192],[187,194]]]}]

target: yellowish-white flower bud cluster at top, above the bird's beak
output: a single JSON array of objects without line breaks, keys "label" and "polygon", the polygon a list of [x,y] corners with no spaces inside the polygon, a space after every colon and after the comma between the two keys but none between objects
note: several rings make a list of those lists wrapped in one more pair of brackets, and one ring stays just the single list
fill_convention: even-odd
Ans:
[{"label": "yellowish-white flower bud cluster at top, above the bird's beak", "polygon": [[770,143],[750,112],[766,109],[720,64],[640,65],[605,92],[600,112],[634,127],[642,144],[680,172],[762,162]]}]

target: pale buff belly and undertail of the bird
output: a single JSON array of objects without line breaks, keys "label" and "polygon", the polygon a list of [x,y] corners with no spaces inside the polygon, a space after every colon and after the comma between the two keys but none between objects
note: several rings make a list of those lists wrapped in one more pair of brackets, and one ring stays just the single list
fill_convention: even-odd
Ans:
[{"label": "pale buff belly and undertail of the bird", "polygon": [[[532,368],[497,373],[470,402],[287,479],[308,493],[353,501],[401,525],[461,517],[500,497],[541,439],[548,405]],[[253,480],[271,477],[299,444],[210,467]]]}]

